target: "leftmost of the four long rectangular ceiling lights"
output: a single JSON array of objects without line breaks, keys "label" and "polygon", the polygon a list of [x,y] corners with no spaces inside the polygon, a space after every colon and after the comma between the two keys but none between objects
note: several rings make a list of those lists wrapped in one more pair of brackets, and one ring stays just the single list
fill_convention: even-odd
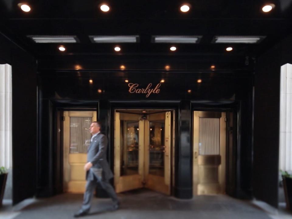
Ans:
[{"label": "leftmost of the four long rectangular ceiling lights", "polygon": [[49,36],[49,35],[28,35],[36,43],[77,43],[76,36]]}]

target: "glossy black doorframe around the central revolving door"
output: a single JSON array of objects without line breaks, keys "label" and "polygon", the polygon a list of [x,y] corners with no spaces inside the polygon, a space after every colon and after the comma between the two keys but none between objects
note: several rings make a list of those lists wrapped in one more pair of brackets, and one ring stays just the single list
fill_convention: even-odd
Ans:
[{"label": "glossy black doorframe around the central revolving door", "polygon": [[[171,185],[170,195],[174,194],[174,183],[176,173],[176,151],[177,145],[179,145],[179,104],[181,101],[119,101],[109,100],[109,165],[111,170],[114,170],[114,137],[115,137],[115,110],[116,109],[162,109],[162,110],[174,110],[174,142],[171,155]],[[173,124],[171,124],[173,127]],[[173,137],[172,137],[173,138]]]}]

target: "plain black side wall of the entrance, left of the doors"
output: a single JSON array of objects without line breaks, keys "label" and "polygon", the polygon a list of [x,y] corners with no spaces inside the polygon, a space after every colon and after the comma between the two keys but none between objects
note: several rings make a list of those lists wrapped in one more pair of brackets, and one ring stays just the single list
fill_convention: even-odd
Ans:
[{"label": "plain black side wall of the entrance, left of the doors", "polygon": [[12,65],[12,199],[36,190],[36,60],[0,34],[0,59]]}]

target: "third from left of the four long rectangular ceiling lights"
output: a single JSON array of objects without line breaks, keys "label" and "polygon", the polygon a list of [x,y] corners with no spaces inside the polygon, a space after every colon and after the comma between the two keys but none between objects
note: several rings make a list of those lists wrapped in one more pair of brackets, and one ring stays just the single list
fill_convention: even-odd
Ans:
[{"label": "third from left of the four long rectangular ceiling lights", "polygon": [[152,36],[153,43],[199,43],[202,36]]}]

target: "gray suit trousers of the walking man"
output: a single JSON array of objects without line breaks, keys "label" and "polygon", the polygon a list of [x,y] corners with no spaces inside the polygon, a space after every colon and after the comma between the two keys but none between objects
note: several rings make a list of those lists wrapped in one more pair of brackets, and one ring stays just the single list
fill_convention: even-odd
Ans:
[{"label": "gray suit trousers of the walking man", "polygon": [[116,196],[116,192],[113,189],[113,186],[109,183],[108,180],[89,180],[86,183],[85,187],[85,193],[83,197],[83,204],[82,204],[82,211],[89,212],[91,207],[91,200],[93,196],[94,189],[96,188],[97,183],[103,187],[104,190],[109,194],[109,197],[113,200],[113,202],[116,204],[119,202],[118,197]]}]

